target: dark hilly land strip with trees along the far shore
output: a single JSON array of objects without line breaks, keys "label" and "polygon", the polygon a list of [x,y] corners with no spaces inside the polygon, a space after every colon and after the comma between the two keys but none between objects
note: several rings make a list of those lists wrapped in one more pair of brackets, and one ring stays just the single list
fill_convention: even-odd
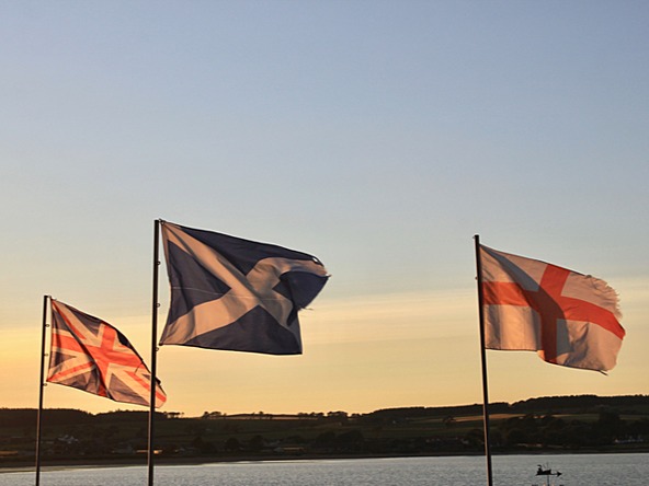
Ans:
[{"label": "dark hilly land strip with trees along the far shore", "polygon": [[[492,403],[493,453],[649,452],[649,395]],[[36,409],[0,408],[0,467],[31,465]],[[43,412],[43,464],[146,463],[148,412]],[[482,406],[156,414],[159,463],[483,453]]]}]

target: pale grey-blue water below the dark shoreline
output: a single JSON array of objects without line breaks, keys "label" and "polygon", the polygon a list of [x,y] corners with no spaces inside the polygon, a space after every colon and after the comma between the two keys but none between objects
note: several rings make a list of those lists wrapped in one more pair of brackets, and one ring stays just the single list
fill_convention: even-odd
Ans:
[{"label": "pale grey-blue water below the dark shoreline", "polygon": [[[538,464],[563,473],[556,485],[646,486],[649,454],[497,455],[497,486],[545,485]],[[475,486],[487,484],[480,456],[304,460],[160,465],[157,486]],[[0,474],[0,486],[31,486],[33,472]],[[42,486],[141,486],[146,466],[44,470]],[[555,484],[555,482],[550,482]]]}]

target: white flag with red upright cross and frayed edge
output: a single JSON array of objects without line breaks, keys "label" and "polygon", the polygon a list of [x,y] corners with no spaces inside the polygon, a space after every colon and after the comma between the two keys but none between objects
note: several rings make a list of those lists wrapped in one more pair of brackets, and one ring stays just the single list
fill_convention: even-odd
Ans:
[{"label": "white flag with red upright cross and frayed edge", "polygon": [[480,262],[486,348],[602,372],[615,367],[625,331],[605,281],[483,245]]}]

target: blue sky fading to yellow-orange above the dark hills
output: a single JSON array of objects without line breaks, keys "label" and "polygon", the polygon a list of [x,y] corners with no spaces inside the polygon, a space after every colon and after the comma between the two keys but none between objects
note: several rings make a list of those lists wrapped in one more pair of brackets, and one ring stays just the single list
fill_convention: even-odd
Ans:
[{"label": "blue sky fading to yellow-orange above the dark hills", "polygon": [[481,403],[475,234],[605,279],[627,332],[608,375],[488,351],[491,402],[649,394],[647,25],[641,0],[0,3],[0,407],[37,407],[44,294],[150,361],[158,218],[331,274],[300,356],[162,346],[162,410]]}]

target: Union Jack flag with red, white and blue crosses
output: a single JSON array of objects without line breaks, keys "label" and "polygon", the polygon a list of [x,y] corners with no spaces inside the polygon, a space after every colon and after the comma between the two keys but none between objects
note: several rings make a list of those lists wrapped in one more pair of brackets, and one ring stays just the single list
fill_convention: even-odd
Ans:
[{"label": "Union Jack flag with red, white and blue crosses", "polygon": [[[52,300],[52,350],[47,381],[149,405],[151,373],[119,331],[92,315]],[[156,385],[156,407],[167,401]]]}]

